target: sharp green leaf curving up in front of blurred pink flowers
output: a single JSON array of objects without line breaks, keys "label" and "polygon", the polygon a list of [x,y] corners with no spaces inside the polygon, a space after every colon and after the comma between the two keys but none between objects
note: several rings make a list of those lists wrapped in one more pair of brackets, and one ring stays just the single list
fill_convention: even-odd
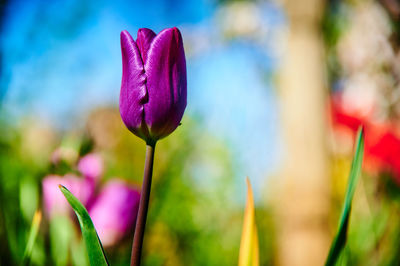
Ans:
[{"label": "sharp green leaf curving up in front of blurred pink flowers", "polygon": [[72,193],[64,186],[59,185],[61,192],[74,209],[76,216],[81,226],[83,239],[86,243],[86,249],[89,256],[89,263],[92,266],[109,265],[103,246],[94,228],[93,222],[90,219],[86,208]]}]

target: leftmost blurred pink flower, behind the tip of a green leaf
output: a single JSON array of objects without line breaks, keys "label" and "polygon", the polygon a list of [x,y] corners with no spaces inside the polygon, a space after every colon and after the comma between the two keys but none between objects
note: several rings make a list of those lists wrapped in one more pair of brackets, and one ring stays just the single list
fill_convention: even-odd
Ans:
[{"label": "leftmost blurred pink flower, behind the tip of a green leaf", "polygon": [[94,186],[91,182],[72,174],[64,177],[48,175],[42,181],[43,204],[45,213],[49,218],[54,215],[66,215],[72,212],[67,200],[60,192],[58,185],[61,184],[69,189],[84,205],[93,195]]}]

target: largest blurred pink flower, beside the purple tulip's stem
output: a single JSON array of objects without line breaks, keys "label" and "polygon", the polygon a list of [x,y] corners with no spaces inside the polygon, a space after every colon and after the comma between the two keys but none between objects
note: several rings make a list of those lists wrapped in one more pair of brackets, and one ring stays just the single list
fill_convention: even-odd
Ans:
[{"label": "largest blurred pink flower, beside the purple tulip's stem", "polygon": [[125,182],[109,181],[89,210],[104,246],[117,243],[136,222],[140,193]]}]

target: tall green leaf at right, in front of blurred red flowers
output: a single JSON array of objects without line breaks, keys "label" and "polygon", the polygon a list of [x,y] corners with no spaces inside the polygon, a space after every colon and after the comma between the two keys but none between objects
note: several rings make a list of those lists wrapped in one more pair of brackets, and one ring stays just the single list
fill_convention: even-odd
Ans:
[{"label": "tall green leaf at right, in front of blurred red flowers", "polygon": [[346,245],[347,228],[349,225],[350,212],[351,212],[351,203],[353,200],[354,191],[356,190],[357,181],[361,173],[363,153],[364,153],[364,130],[362,129],[362,127],[360,127],[358,129],[357,146],[353,157],[353,162],[351,164],[350,176],[348,181],[349,183],[347,184],[346,197],[344,200],[342,214],[339,221],[339,228],[332,242],[328,258],[325,262],[326,266],[335,265],[337,259],[340,256],[341,251]]}]

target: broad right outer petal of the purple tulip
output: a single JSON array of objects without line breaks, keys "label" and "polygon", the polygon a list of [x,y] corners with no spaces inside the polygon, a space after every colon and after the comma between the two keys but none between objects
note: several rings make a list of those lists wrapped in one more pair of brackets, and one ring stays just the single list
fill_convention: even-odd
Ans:
[{"label": "broad right outer petal of the purple tulip", "polygon": [[151,42],[144,65],[149,101],[144,120],[152,139],[169,135],[179,125],[186,108],[186,61],[177,28],[161,31]]}]

